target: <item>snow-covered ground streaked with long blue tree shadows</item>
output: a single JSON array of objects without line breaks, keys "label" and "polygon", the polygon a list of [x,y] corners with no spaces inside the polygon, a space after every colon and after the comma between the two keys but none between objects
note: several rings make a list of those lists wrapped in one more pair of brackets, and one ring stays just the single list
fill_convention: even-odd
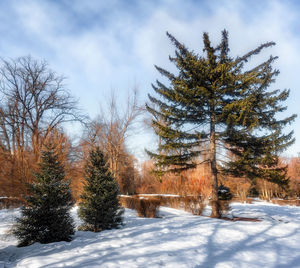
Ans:
[{"label": "snow-covered ground streaked with long blue tree shadows", "polygon": [[[76,232],[73,241],[17,248],[7,234],[18,210],[0,211],[2,267],[300,267],[300,207],[233,203],[224,221],[161,208],[161,218],[126,209],[121,229]],[[76,209],[73,210],[76,217]],[[76,218],[78,222],[78,219]]]}]

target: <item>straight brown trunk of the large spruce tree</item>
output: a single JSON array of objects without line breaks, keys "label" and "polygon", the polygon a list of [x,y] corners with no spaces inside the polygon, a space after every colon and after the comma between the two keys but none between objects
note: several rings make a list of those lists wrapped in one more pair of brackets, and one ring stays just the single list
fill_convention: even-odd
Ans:
[{"label": "straight brown trunk of the large spruce tree", "polygon": [[218,171],[216,161],[216,131],[215,131],[215,115],[211,115],[210,125],[210,168],[211,168],[211,183],[212,183],[212,194],[211,194],[211,217],[220,218],[220,203],[218,198]]}]

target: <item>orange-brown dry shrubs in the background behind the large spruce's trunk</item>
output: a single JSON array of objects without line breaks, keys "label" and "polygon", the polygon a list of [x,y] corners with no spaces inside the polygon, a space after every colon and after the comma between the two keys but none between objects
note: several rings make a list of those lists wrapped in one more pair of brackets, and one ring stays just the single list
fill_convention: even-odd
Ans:
[{"label": "orange-brown dry shrubs in the background behind the large spruce's trunk", "polygon": [[[247,178],[222,177],[220,182],[229,187],[235,200],[249,201],[250,196],[257,196],[264,200],[272,198],[299,198],[300,197],[300,158],[283,159],[288,165],[288,187],[281,187],[266,180],[250,181]],[[201,196],[208,200],[211,193],[209,183],[209,168],[206,164],[182,172],[181,174],[166,174],[156,177],[152,170],[154,164],[146,161],[141,167],[141,176],[136,183],[136,192],[139,194],[178,194],[182,196]]]}]

